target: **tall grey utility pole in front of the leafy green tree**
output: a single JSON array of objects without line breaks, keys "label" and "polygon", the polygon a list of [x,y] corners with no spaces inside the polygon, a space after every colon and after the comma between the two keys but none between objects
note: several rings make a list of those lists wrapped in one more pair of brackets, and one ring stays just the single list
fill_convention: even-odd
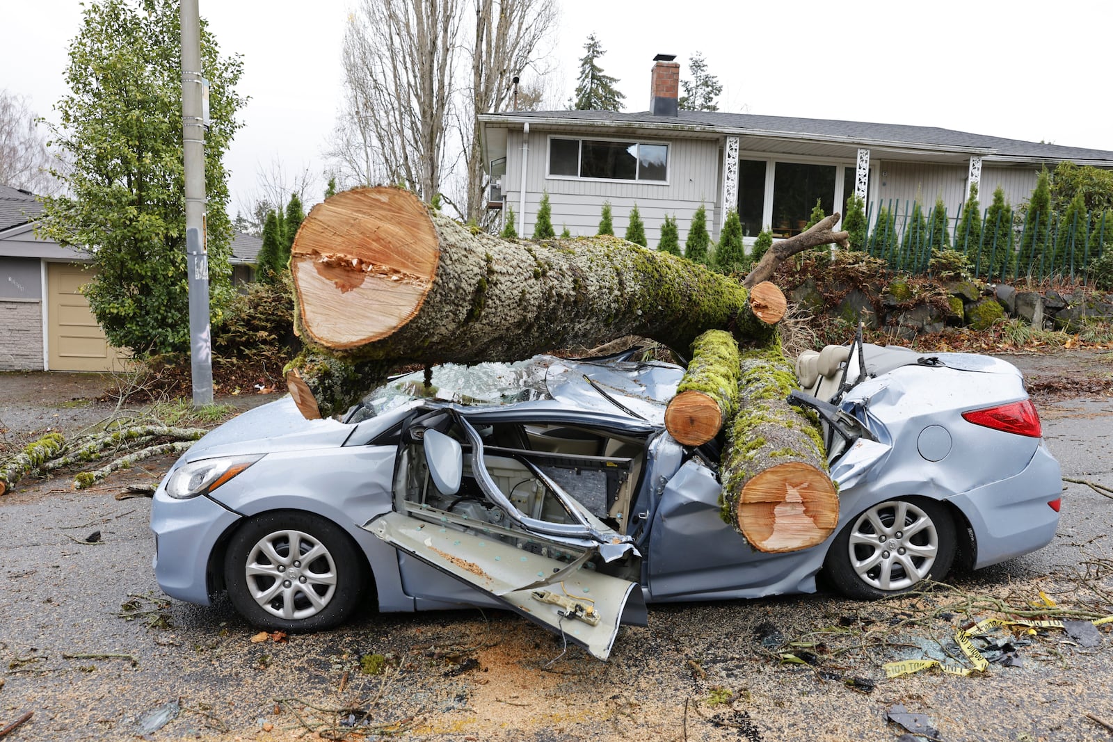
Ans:
[{"label": "tall grey utility pole in front of the leafy green tree", "polygon": [[208,250],[205,245],[205,120],[198,0],[181,0],[181,144],[186,176],[186,270],[189,271],[189,358],[194,407],[213,404]]}]

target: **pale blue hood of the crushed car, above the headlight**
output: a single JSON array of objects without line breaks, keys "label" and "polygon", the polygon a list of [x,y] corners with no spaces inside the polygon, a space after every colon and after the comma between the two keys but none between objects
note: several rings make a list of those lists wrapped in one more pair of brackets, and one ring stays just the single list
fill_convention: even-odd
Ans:
[{"label": "pale blue hood of the crushed car, above the headlight", "polygon": [[332,418],[305,419],[287,394],[210,431],[186,452],[183,461],[294,448],[332,448],[343,445],[351,433],[351,425]]}]

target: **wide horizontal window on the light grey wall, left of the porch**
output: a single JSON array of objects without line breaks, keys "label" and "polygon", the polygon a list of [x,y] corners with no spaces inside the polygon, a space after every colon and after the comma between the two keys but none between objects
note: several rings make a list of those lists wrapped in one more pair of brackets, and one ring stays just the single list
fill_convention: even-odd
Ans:
[{"label": "wide horizontal window on the light grey wall, left of the porch", "polygon": [[549,139],[549,175],[664,182],[669,146],[610,139]]}]

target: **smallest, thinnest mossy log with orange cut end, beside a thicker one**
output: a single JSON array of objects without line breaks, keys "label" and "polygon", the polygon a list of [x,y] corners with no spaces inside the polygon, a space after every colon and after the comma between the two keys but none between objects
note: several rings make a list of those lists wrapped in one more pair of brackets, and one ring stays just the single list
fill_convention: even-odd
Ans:
[{"label": "smallest, thinnest mossy log with orange cut end, beside a thicker one", "polygon": [[697,337],[677,396],[664,410],[669,435],[686,446],[699,446],[719,435],[738,409],[740,370],[738,343],[730,333],[709,329]]}]

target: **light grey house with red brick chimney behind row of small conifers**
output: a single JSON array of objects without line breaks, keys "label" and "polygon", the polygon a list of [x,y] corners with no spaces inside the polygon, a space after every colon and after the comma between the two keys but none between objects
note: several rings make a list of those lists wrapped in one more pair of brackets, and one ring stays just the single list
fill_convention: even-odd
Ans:
[{"label": "light grey house with red brick chimney behind row of small conifers", "polygon": [[954,218],[972,185],[982,207],[999,186],[1014,206],[1026,200],[1043,167],[1063,160],[1113,168],[1113,151],[1044,145],[932,127],[678,110],[679,65],[659,55],[650,108],[525,111],[480,117],[491,175],[492,208],[513,209],[529,236],[544,192],[556,231],[593,235],[610,201],[615,234],[637,204],[650,247],[664,215],[683,241],[703,204],[718,237],[737,208],[752,241],[765,227],[798,234],[818,199],[826,214],[861,196],[879,205],[928,207],[943,198]]}]

